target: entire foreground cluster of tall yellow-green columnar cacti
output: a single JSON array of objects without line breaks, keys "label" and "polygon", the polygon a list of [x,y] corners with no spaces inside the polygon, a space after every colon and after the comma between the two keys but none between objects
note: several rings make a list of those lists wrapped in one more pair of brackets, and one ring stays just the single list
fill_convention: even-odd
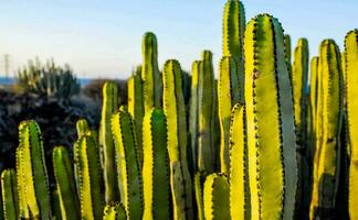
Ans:
[{"label": "entire foreground cluster of tall yellow-green columnar cacti", "polygon": [[176,59],[160,72],[146,33],[126,106],[106,82],[99,135],[77,121],[73,155],[53,150],[54,186],[40,128],[23,121],[0,219],[358,219],[358,31],[343,54],[323,41],[309,66],[308,41],[292,63],[274,16],[246,24],[239,0],[223,14],[218,80],[210,51],[191,76]]}]

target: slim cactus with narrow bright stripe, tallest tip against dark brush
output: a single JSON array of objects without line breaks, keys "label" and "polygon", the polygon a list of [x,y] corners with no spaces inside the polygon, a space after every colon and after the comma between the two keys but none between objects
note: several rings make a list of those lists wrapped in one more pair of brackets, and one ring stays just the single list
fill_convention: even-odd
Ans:
[{"label": "slim cactus with narrow bright stripe, tallest tip against dark brush", "polygon": [[116,201],[118,197],[116,178],[116,160],[110,132],[112,114],[118,109],[118,88],[115,82],[107,81],[103,86],[103,105],[99,128],[99,147],[103,151],[104,183],[106,202]]}]

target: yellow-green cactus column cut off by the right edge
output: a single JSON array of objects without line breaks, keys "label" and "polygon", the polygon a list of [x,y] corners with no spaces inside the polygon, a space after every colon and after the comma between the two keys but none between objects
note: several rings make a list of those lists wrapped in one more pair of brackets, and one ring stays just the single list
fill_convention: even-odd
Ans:
[{"label": "yellow-green cactus column cut off by the right edge", "polygon": [[350,167],[349,167],[349,216],[350,219],[358,219],[358,30],[350,31],[345,40],[346,55],[346,89],[347,89],[347,113],[350,144]]}]

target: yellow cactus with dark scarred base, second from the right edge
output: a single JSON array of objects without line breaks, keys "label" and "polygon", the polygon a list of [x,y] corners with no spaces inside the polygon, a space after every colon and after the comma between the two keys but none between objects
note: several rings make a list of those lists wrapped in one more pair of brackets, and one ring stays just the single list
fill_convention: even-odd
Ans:
[{"label": "yellow cactus with dark scarred base, second from the right edge", "polygon": [[[313,196],[310,219],[327,218],[334,215],[335,199],[338,187],[338,165],[340,158],[340,129],[343,122],[343,75],[340,53],[333,40],[325,40],[319,51],[319,77],[322,94],[322,129],[315,152]],[[319,101],[319,100],[318,100]]]}]

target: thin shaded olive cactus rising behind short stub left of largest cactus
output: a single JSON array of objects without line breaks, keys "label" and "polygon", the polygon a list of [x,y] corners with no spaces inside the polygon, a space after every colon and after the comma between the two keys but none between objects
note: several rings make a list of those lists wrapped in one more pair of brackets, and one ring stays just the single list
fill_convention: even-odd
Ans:
[{"label": "thin shaded olive cactus rising behind short stub left of largest cactus", "polygon": [[215,167],[215,146],[212,144],[214,76],[212,53],[202,52],[198,80],[198,169],[212,173]]}]

